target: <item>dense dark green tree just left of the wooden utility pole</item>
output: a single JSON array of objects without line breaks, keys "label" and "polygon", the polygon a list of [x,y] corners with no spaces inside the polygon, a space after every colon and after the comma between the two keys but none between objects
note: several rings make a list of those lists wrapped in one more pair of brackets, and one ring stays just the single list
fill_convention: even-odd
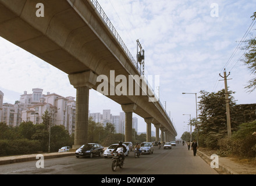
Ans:
[{"label": "dense dark green tree just left of the wooden utility pole", "polygon": [[[201,123],[198,128],[200,144],[212,149],[218,148],[218,140],[227,134],[225,90],[216,93],[200,91],[200,93],[199,98],[201,99],[198,105],[198,109],[201,111],[198,117]],[[235,105],[232,94],[234,92],[229,91],[230,110]]]}]

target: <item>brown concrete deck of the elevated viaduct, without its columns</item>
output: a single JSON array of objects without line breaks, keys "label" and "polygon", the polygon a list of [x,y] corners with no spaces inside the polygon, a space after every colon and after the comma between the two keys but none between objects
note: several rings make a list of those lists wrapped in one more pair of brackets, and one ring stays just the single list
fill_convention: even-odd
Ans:
[{"label": "brown concrete deck of the elevated viaduct, without its columns", "polygon": [[[39,2],[45,5],[45,17],[35,15]],[[110,71],[115,70],[115,76],[139,75],[90,1],[0,0],[0,35],[67,74],[91,70],[109,78]],[[108,98],[120,105],[136,103],[137,115],[154,117],[153,123],[176,135],[162,107],[158,102],[148,102],[148,96]]]}]

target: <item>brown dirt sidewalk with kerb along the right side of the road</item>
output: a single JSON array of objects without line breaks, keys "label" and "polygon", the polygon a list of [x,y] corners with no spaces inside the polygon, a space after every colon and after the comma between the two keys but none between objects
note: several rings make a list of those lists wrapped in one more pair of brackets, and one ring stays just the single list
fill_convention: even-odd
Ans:
[{"label": "brown dirt sidewalk with kerb along the right side of the road", "polygon": [[[208,164],[212,162],[212,159],[205,153],[197,150],[197,154],[201,156]],[[231,158],[219,158],[219,169],[215,169],[220,174],[256,174],[256,167],[250,167],[247,164],[236,163]]]}]

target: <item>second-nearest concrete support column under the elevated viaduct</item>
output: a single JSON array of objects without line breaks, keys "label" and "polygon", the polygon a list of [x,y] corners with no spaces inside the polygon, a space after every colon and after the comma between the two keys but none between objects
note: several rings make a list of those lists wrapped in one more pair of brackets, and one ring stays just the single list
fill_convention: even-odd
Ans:
[{"label": "second-nearest concrete support column under the elevated viaduct", "polygon": [[121,105],[123,112],[125,112],[125,141],[132,141],[133,130],[133,112],[136,110],[136,104]]}]

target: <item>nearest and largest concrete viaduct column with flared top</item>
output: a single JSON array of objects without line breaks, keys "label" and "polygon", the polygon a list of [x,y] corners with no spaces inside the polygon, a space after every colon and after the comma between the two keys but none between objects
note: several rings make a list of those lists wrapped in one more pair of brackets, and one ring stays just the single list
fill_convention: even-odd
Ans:
[{"label": "nearest and largest concrete viaduct column with flared top", "polygon": [[88,142],[89,90],[96,84],[97,76],[92,71],[70,74],[70,84],[76,88],[76,123],[73,149]]}]

